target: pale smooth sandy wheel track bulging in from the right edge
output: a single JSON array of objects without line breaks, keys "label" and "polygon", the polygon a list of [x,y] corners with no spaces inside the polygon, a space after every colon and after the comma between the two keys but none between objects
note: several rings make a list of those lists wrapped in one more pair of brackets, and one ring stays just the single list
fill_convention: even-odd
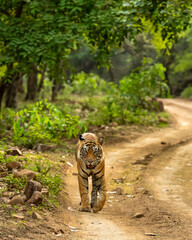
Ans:
[{"label": "pale smooth sandy wheel track bulging in from the right edge", "polygon": [[169,203],[179,214],[192,217],[192,141],[157,156],[160,164],[150,182],[158,199]]}]

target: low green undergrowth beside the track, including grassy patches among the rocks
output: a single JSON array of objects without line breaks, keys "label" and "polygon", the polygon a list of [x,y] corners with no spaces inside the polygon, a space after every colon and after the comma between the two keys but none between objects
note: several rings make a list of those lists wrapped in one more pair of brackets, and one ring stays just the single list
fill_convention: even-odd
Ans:
[{"label": "low green undergrowth beside the track, including grassy patches among the rocks", "polygon": [[[25,148],[33,148],[38,143],[63,145],[67,138],[77,137],[92,125],[113,122],[160,126],[162,114],[156,97],[169,96],[164,71],[161,64],[144,59],[143,66],[124,77],[119,85],[93,74],[79,73],[73,76],[72,83],[65,83],[55,104],[43,99],[20,106],[16,112],[2,110],[0,148],[5,150],[7,144]],[[60,166],[56,160],[37,156],[26,157],[22,166],[38,173],[37,180],[49,190],[47,204],[56,203],[62,184]],[[15,157],[4,157],[0,153],[0,165],[14,160]],[[26,184],[26,179],[16,179],[12,173],[2,181],[7,187],[1,188],[0,195],[8,188],[18,193]]]}]

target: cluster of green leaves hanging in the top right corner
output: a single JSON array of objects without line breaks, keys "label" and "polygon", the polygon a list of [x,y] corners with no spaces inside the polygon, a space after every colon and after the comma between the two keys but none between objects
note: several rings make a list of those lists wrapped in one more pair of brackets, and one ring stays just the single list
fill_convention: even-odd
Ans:
[{"label": "cluster of green leaves hanging in the top right corner", "polygon": [[[178,33],[184,31],[190,21],[190,0],[129,1],[124,3],[129,9],[130,19],[137,18],[138,25],[143,19],[150,21],[155,30],[160,30],[163,40],[175,40]],[[127,10],[126,9],[126,10]]]}]

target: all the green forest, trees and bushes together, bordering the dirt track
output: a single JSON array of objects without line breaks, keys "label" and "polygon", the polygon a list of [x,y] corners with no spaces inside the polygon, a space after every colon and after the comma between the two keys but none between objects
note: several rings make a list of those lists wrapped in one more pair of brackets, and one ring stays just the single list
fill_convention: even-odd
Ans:
[{"label": "all the green forest, trees and bushes together, bordering the dirt track", "polygon": [[[157,98],[192,97],[191,13],[191,0],[1,0],[0,149],[164,126]],[[51,164],[33,169],[58,194]]]}]

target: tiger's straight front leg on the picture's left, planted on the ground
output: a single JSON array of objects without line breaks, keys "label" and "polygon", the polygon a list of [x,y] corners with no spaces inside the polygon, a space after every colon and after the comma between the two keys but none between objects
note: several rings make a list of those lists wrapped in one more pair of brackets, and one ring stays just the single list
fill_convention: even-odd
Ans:
[{"label": "tiger's straight front leg on the picture's left, planted on the ground", "polygon": [[89,195],[88,195],[88,177],[82,177],[78,174],[78,181],[79,181],[79,192],[81,196],[81,207],[79,211],[81,212],[91,212],[90,205],[89,205]]}]

